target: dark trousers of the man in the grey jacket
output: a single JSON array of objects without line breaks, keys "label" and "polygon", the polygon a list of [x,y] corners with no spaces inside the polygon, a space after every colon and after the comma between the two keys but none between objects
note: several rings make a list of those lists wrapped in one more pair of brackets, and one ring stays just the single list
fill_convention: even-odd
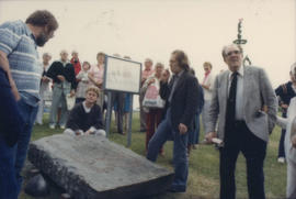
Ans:
[{"label": "dark trousers of the man in the grey jacket", "polygon": [[263,162],[266,142],[257,137],[243,121],[226,126],[225,146],[220,148],[220,199],[236,198],[235,170],[239,153],[247,163],[250,199],[265,199]]}]

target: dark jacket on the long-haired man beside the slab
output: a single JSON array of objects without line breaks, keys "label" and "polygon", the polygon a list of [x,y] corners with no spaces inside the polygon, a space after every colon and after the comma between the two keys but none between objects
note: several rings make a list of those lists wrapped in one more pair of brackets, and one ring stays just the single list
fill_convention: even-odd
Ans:
[{"label": "dark jacket on the long-haired man beside the slab", "polygon": [[[172,84],[160,82],[160,97],[167,101],[171,93]],[[173,130],[179,132],[179,124],[183,123],[187,126],[189,131],[192,131],[192,124],[194,115],[198,107],[198,81],[189,71],[181,75],[171,103],[168,104],[171,108],[171,122]]]}]

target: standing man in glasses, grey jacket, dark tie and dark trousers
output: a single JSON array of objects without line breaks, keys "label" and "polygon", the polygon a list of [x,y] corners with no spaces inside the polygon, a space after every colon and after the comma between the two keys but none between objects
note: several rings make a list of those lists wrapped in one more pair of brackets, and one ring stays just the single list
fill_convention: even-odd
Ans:
[{"label": "standing man in glasses, grey jacket, dark tie and dark trousers", "polygon": [[[235,169],[239,153],[246,157],[250,199],[265,199],[263,162],[269,134],[276,120],[277,101],[263,69],[242,66],[237,45],[223,48],[228,70],[216,77],[206,141],[223,141],[220,152],[220,199],[236,198]],[[215,126],[218,121],[218,130]]]}]

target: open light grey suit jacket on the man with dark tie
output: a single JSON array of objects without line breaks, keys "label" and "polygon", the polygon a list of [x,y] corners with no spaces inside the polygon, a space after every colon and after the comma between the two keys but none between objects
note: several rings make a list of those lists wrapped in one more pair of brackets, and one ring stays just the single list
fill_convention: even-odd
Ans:
[{"label": "open light grey suit jacket on the man with dark tie", "polygon": [[[218,137],[224,140],[229,70],[219,74],[215,79],[213,98],[206,122],[206,132],[214,132],[218,120]],[[276,121],[277,100],[270,80],[262,68],[243,67],[243,119],[249,130],[259,139],[267,142],[269,134]],[[263,112],[262,107],[267,107]]]}]

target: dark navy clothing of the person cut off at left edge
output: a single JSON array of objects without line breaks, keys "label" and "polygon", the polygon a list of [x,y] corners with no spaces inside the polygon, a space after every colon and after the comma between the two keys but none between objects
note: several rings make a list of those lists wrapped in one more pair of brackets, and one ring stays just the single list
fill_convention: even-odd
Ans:
[{"label": "dark navy clothing of the person cut off at left edge", "polygon": [[24,126],[5,73],[0,67],[0,199],[16,199],[14,156]]}]

